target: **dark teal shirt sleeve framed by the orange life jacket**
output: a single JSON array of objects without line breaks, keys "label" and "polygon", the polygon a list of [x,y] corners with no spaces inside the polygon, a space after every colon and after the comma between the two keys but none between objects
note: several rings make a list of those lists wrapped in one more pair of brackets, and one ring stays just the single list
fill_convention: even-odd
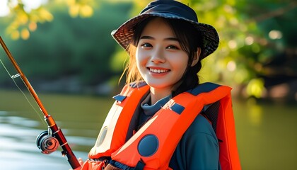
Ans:
[{"label": "dark teal shirt sleeve framed by the orange life jacket", "polygon": [[203,115],[198,115],[182,136],[170,161],[170,167],[218,169],[219,142],[211,124]]}]

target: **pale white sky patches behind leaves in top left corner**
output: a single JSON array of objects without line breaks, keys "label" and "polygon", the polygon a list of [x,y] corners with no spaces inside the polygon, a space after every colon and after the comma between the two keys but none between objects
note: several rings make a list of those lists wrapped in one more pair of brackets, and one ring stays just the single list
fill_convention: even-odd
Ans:
[{"label": "pale white sky patches behind leaves in top left corner", "polygon": [[[16,4],[18,0],[12,0],[12,4]],[[47,2],[47,0],[21,0],[25,5],[25,11],[30,11],[33,8],[38,8],[42,3]],[[9,13],[9,8],[7,6],[8,0],[0,1],[0,17],[6,16]]]}]

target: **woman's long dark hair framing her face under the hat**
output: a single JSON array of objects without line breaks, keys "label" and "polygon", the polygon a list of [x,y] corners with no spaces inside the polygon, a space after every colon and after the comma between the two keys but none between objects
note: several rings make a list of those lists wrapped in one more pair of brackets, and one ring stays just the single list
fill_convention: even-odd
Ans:
[{"label": "woman's long dark hair framing her face under the hat", "polygon": [[[130,45],[128,47],[130,58],[125,69],[125,72],[127,72],[127,79],[126,79],[127,84],[131,83],[132,81],[142,80],[140,73],[136,68],[135,52],[136,52],[136,47],[138,45],[142,30],[144,30],[144,27],[153,18],[156,18],[156,17],[153,17],[153,16],[148,17],[135,27],[132,41],[130,42]],[[199,77],[197,73],[202,68],[202,63],[200,60],[201,57],[199,57],[199,61],[197,62],[197,64],[195,64],[194,66],[191,66],[191,64],[194,60],[194,57],[197,56],[198,47],[201,48],[200,56],[203,56],[204,49],[202,48],[203,47],[202,33],[200,31],[197,31],[197,29],[194,28],[194,26],[187,21],[170,19],[170,18],[163,18],[163,19],[166,23],[168,23],[168,26],[170,26],[170,28],[173,29],[173,33],[175,33],[176,37],[180,40],[180,45],[182,47],[182,50],[187,52],[187,55],[189,56],[187,69],[182,79],[180,79],[182,83],[180,84],[180,86],[177,87],[177,89],[175,89],[175,91],[173,91],[173,94],[172,94],[172,96],[176,96],[177,94],[180,94],[184,91],[193,89],[195,86],[199,84]]]}]

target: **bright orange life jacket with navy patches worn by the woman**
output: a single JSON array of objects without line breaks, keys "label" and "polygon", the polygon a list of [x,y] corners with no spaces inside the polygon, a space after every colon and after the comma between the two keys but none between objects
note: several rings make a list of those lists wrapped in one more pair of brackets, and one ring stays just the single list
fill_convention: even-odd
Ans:
[{"label": "bright orange life jacket with navy patches worn by the woman", "polygon": [[219,101],[216,119],[216,135],[219,142],[221,168],[241,169],[235,139],[235,124],[231,103],[231,88],[218,84],[200,84],[191,91],[170,99],[129,140],[127,132],[134,111],[149,86],[124,86],[115,96],[115,103],[103,123],[95,146],[88,154],[83,169],[98,169],[103,162],[93,161],[101,157],[135,167],[144,162],[144,169],[170,169],[168,164],[182,135],[201,113],[204,106]]}]

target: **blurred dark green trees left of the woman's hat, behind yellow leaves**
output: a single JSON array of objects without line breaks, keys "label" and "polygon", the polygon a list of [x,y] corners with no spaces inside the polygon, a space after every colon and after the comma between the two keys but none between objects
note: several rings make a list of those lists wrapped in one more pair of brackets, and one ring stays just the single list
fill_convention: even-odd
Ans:
[{"label": "blurred dark green trees left of the woman's hat, behind yellow leaves", "polygon": [[[119,74],[110,67],[111,55],[117,47],[110,33],[127,19],[127,11],[132,5],[98,1],[96,7],[93,6],[93,15],[88,18],[69,15],[68,5],[55,1],[40,7],[51,11],[54,19],[36,23],[37,29],[30,33],[30,38],[14,42],[9,41],[8,37],[15,39],[7,31],[14,22],[11,22],[11,16],[16,15],[11,13],[1,18],[0,28],[6,28],[1,35],[23,72],[31,79],[45,81],[73,77],[73,83],[79,82],[80,86],[102,84]],[[16,29],[23,29],[21,27],[25,25]]]}]

